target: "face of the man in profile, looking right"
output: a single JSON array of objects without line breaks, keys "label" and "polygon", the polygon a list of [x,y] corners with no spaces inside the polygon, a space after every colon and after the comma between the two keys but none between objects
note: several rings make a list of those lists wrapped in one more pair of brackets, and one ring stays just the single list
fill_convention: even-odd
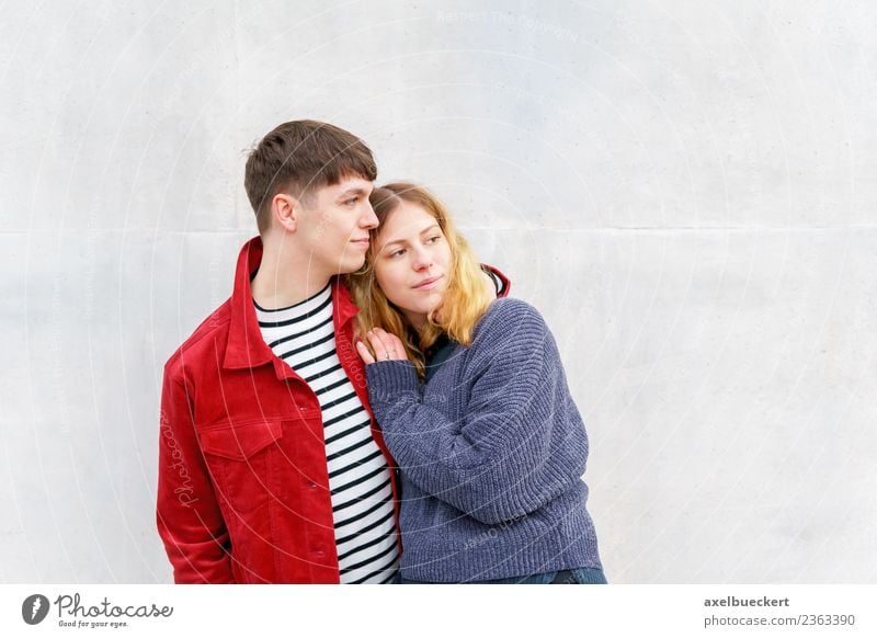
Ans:
[{"label": "face of the man in profile, looking right", "polygon": [[368,202],[372,189],[374,183],[364,178],[342,178],[299,202],[298,232],[315,272],[329,277],[352,273],[365,263],[368,231],[377,228]]}]

